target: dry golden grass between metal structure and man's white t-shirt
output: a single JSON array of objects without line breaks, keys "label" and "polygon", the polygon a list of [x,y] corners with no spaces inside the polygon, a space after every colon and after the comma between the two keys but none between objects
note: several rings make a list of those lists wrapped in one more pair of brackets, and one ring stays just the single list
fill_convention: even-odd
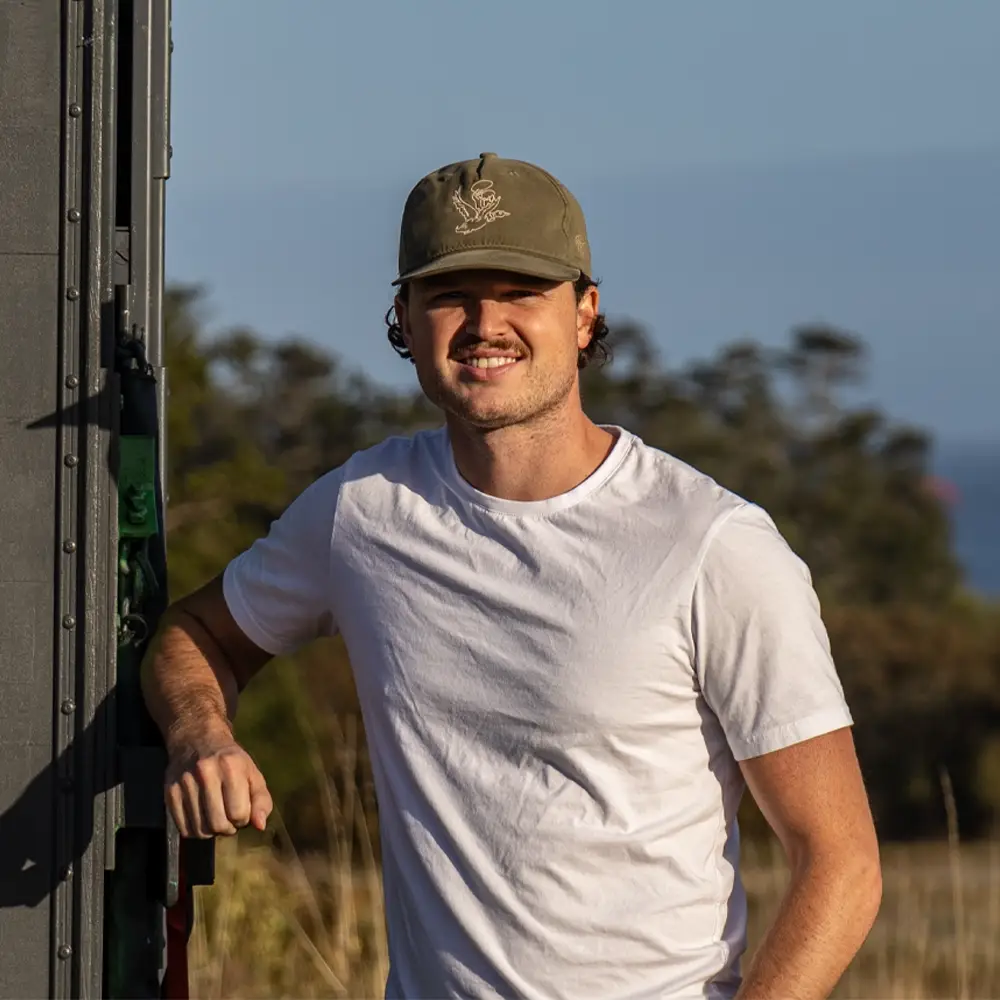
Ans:
[{"label": "dry golden grass between metal structure and man's white t-shirt", "polygon": [[[382,879],[352,780],[360,737],[353,720],[336,735],[341,795],[305,731],[329,834],[325,854],[301,858],[288,847],[248,850],[238,838],[218,841],[215,885],[195,889],[193,997],[382,995]],[[286,833],[277,810],[269,828]],[[281,839],[291,843],[287,834]]]}]

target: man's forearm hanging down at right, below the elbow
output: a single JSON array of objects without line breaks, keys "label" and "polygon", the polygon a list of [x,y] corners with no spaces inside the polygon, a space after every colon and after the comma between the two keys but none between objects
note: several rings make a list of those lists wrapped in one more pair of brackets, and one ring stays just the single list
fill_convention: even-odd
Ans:
[{"label": "man's forearm hanging down at right, below the elbow", "polygon": [[800,865],[737,1000],[828,997],[868,936],[880,900],[877,862]]}]

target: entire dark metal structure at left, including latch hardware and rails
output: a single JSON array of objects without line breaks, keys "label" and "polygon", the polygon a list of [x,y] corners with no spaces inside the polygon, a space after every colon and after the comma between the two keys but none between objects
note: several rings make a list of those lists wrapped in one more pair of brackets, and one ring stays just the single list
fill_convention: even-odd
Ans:
[{"label": "entire dark metal structure at left, including latch hardware and rails", "polygon": [[[0,0],[0,1000],[158,997],[167,961],[169,35],[170,0]],[[126,445],[155,516],[120,539]]]}]

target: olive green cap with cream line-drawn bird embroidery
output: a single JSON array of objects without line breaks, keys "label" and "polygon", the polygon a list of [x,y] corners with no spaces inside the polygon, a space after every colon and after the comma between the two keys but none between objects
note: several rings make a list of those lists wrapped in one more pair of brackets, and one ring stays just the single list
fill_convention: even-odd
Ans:
[{"label": "olive green cap with cream line-drawn bird embroidery", "polygon": [[590,277],[583,210],[541,167],[496,153],[435,170],[406,199],[393,284],[471,268]]}]

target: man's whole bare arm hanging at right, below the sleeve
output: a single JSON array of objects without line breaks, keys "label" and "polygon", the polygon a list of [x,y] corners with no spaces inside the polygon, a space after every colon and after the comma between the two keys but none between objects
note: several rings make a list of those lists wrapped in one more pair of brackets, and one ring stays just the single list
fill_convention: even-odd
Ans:
[{"label": "man's whole bare arm hanging at right, below the sleeve", "polygon": [[882,894],[878,841],[849,729],[743,761],[791,881],[738,1000],[827,997],[864,943]]}]

